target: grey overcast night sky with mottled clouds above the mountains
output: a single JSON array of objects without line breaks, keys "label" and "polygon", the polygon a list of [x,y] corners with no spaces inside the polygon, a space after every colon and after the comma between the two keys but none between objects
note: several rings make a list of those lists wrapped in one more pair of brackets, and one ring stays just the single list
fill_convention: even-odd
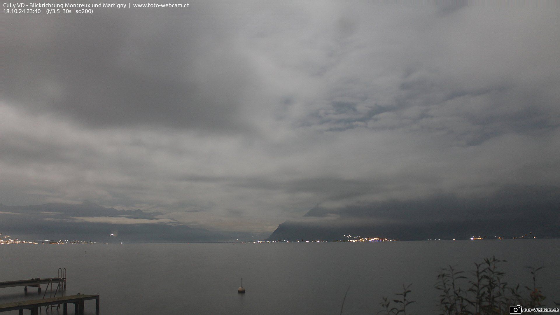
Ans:
[{"label": "grey overcast night sky with mottled clouds above the mountains", "polygon": [[558,194],[557,2],[385,3],[3,15],[0,202],[270,232],[318,205]]}]

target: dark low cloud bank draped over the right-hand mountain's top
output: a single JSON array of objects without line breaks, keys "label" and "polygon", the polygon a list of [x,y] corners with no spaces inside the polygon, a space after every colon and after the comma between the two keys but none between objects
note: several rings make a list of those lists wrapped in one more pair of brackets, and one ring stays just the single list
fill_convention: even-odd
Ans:
[{"label": "dark low cloud bank draped over the right-hand mountain's top", "polygon": [[[495,216],[529,214],[558,225],[557,209],[560,205],[558,187],[504,187],[491,196],[457,197],[440,195],[413,200],[388,200],[358,203],[329,209],[316,206],[305,217],[373,217],[380,221],[419,223],[424,221],[461,221],[469,217],[484,217],[494,220]],[[539,220],[542,221],[542,220]],[[544,223],[544,222],[542,222]]]}]

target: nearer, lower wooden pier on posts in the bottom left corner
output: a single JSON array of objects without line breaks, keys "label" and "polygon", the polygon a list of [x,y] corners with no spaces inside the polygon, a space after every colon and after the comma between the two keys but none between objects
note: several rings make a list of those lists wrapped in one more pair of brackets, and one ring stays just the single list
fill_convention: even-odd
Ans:
[{"label": "nearer, lower wooden pier on posts in the bottom left corner", "polygon": [[0,312],[7,311],[20,311],[20,315],[24,314],[24,309],[29,309],[31,315],[38,315],[39,308],[49,305],[62,304],[62,312],[64,315],[68,314],[68,303],[74,304],[74,314],[83,314],[83,302],[86,300],[95,300],[95,311],[99,314],[99,295],[68,295],[67,297],[46,298],[40,300],[26,300],[20,302],[12,302],[0,304]]}]

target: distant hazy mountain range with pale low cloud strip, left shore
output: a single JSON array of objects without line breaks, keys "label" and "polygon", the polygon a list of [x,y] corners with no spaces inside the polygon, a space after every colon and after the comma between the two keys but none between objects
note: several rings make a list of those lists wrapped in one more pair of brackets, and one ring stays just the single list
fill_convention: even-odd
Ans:
[{"label": "distant hazy mountain range with pale low cloud strip, left shore", "polygon": [[77,205],[0,204],[0,231],[20,239],[93,242],[213,242],[232,237],[227,233],[193,229],[176,220],[161,218],[162,215],[139,209],[106,208],[89,201]]}]

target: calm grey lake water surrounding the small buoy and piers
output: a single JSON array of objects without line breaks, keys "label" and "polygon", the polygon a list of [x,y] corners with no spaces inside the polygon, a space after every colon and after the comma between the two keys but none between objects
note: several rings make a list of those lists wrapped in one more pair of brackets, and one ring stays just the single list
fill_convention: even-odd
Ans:
[{"label": "calm grey lake water surrounding the small buoy and piers", "polygon": [[[335,315],[348,286],[344,314],[375,314],[383,295],[392,297],[403,283],[413,283],[410,298],[419,302],[414,313],[432,314],[438,267],[451,264],[471,270],[474,261],[492,255],[508,261],[503,270],[521,285],[530,284],[523,266],[546,266],[538,285],[547,304],[553,305],[552,300],[560,301],[559,243],[535,239],[0,245],[0,281],[52,277],[59,267],[66,267],[66,294],[99,293],[101,314],[106,315]],[[237,294],[241,277],[244,295]],[[26,295],[23,291],[0,289],[0,303],[38,298],[35,288]],[[85,305],[86,314],[95,313],[95,302]]]}]

